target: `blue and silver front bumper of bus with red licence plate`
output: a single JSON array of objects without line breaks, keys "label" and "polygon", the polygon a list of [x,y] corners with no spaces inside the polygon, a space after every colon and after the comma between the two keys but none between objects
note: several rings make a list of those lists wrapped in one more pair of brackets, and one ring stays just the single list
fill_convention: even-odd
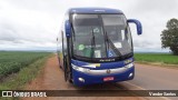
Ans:
[{"label": "blue and silver front bumper of bus with red licence plate", "polygon": [[75,86],[87,86],[103,82],[119,82],[131,80],[135,77],[135,66],[128,64],[117,69],[89,70],[72,64]]}]

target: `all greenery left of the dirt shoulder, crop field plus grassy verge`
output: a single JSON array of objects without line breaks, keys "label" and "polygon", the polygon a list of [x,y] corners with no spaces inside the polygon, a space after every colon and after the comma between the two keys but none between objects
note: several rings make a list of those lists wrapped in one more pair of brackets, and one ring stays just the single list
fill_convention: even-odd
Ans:
[{"label": "all greenery left of the dirt shoulder, crop field plus grassy verge", "polygon": [[[40,72],[48,52],[0,52],[0,90],[21,90]],[[0,98],[13,100],[18,98]]]}]

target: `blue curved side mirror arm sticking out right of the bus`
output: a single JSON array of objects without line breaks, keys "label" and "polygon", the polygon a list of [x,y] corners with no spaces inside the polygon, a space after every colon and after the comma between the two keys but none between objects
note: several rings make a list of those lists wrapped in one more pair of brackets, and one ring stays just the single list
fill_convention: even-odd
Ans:
[{"label": "blue curved side mirror arm sticking out right of the bus", "polygon": [[136,19],[128,19],[127,22],[136,24],[136,27],[137,27],[137,34],[141,34],[142,33],[142,26],[141,26],[140,21],[138,21]]}]

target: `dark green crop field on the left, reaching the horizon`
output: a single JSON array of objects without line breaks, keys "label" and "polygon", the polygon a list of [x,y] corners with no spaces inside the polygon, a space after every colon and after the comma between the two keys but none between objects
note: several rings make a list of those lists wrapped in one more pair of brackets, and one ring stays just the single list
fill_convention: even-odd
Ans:
[{"label": "dark green crop field on the left, reaching the horizon", "polygon": [[0,80],[41,59],[47,52],[0,52]]}]

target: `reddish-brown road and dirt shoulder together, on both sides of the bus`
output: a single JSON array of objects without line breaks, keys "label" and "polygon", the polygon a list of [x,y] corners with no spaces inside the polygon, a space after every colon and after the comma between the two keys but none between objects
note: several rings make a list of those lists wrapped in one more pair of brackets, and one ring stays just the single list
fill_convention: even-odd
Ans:
[{"label": "reddish-brown road and dirt shoulder together, on both sides of the bus", "polygon": [[[41,74],[27,86],[29,90],[79,90],[79,89],[98,89],[98,90],[144,90],[144,89],[178,89],[176,82],[178,82],[178,70],[165,69],[158,67],[150,67],[145,64],[136,64],[136,78],[131,81],[119,83],[105,83],[96,84],[83,88],[73,87],[70,83],[66,83],[63,79],[63,72],[59,70],[57,57],[50,58]],[[97,91],[96,91],[97,93]],[[24,100],[31,100],[31,98],[23,98]],[[59,97],[59,98],[33,98],[33,100],[168,100],[168,98],[142,98],[142,97]],[[175,99],[175,98],[170,98]],[[177,99],[175,99],[177,100]]]}]

